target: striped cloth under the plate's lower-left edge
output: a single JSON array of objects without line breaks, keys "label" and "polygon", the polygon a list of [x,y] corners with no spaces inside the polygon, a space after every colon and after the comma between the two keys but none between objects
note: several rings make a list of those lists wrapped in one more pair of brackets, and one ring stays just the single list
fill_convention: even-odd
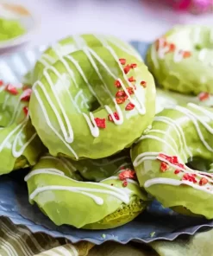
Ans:
[{"label": "striped cloth under the plate's lower-left edge", "polygon": [[71,245],[47,234],[32,234],[26,227],[0,218],[0,256],[86,256],[92,246],[89,242]]}]

